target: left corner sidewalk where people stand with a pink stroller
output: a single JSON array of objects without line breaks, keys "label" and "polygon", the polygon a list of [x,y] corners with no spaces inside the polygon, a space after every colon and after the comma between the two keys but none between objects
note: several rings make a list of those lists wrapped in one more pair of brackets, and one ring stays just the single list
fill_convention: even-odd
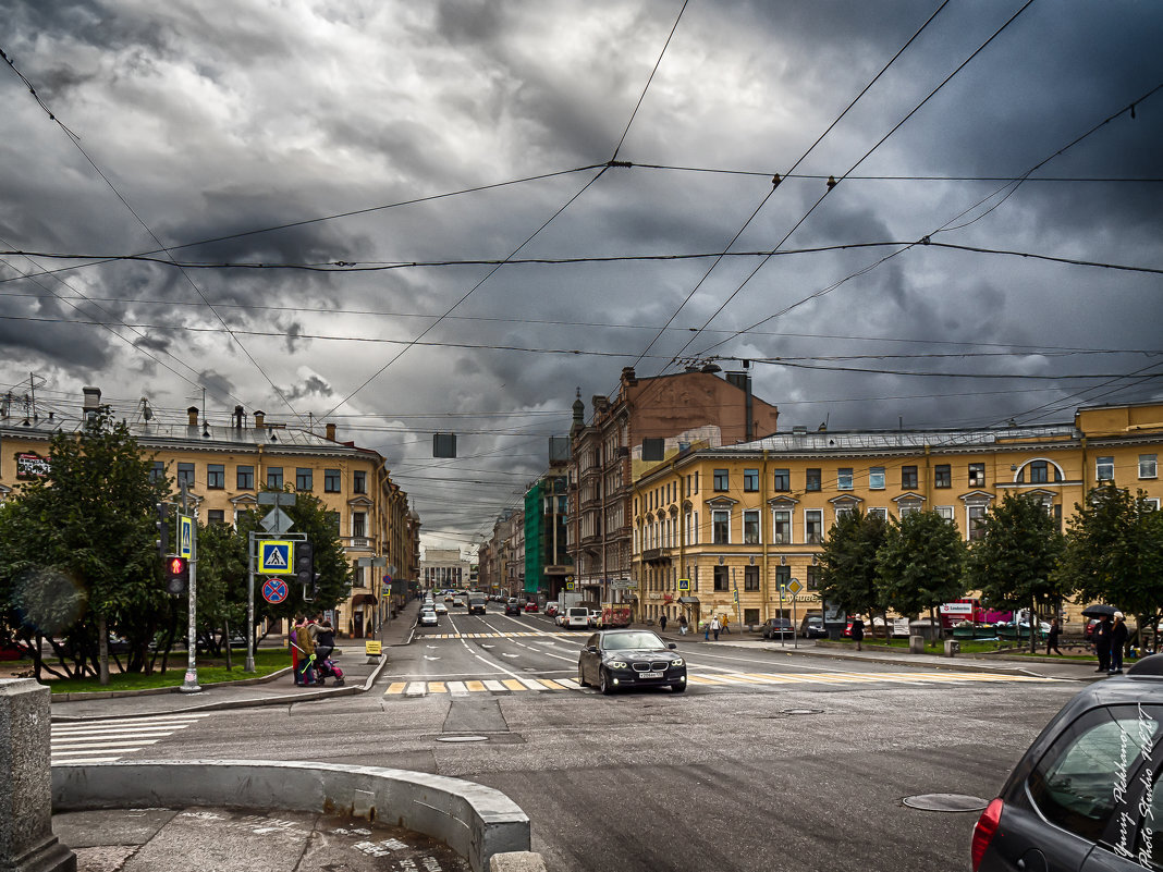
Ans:
[{"label": "left corner sidewalk where people stand with a pink stroller", "polygon": [[[372,639],[336,639],[336,664],[343,670],[343,685],[335,686],[328,679],[324,687],[295,687],[291,677],[291,655],[287,653],[286,670],[250,682],[204,685],[195,693],[181,692],[126,692],[117,696],[85,696],[71,694],[71,699],[52,700],[53,722],[101,720],[109,717],[145,717],[150,715],[179,714],[187,712],[213,712],[251,706],[288,706],[305,700],[364,693],[371,688],[380,670],[391,659],[391,648],[407,645],[415,632],[420,602],[413,600],[400,613],[385,623],[378,634],[383,645],[380,657],[368,657],[364,643]],[[241,669],[241,666],[240,666]]]}]

